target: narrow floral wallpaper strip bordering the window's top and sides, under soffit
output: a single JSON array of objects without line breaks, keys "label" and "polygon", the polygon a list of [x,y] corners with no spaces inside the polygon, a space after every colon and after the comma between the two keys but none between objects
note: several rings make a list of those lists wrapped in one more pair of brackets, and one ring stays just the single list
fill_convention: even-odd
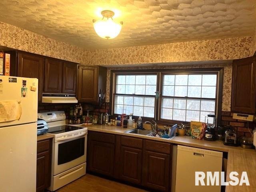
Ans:
[{"label": "narrow floral wallpaper strip bordering the window's top and sides, under soffit", "polygon": [[110,101],[110,73],[111,70],[127,70],[127,69],[174,69],[174,68],[214,68],[223,67],[223,92],[222,92],[222,111],[230,111],[231,107],[231,87],[232,87],[232,62],[225,64],[190,64],[190,65],[174,65],[174,66],[150,66],[150,67],[115,67],[108,68],[107,72],[107,89],[106,102]]}]

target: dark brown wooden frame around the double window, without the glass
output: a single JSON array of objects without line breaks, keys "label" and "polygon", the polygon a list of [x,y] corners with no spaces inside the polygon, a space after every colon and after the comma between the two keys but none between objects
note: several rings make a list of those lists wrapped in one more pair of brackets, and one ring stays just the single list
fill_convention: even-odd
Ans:
[{"label": "dark brown wooden frame around the double window, without the glass", "polygon": [[[162,88],[163,88],[163,75],[164,74],[217,74],[217,84],[216,84],[216,102],[215,102],[215,112],[216,112],[216,124],[221,122],[221,113],[222,113],[222,89],[223,89],[223,76],[224,76],[224,68],[216,67],[216,68],[166,68],[166,69],[128,69],[128,70],[110,70],[110,114],[114,114],[114,98],[116,92],[116,76],[117,75],[136,75],[136,74],[157,74],[157,83],[156,83],[156,91],[160,91],[159,99],[155,99],[155,117],[147,118],[144,117],[144,120],[156,120],[159,124],[164,125],[172,125],[175,123],[178,124],[186,124],[190,126],[189,122],[183,122],[178,120],[166,120],[161,119],[161,101],[162,101]],[[126,95],[126,94],[124,94]],[[131,95],[130,95],[131,96]],[[146,95],[143,95],[146,96]],[[152,97],[152,96],[151,96]],[[168,97],[168,96],[164,96]],[[170,96],[170,98],[174,98],[174,96]],[[184,97],[180,97],[184,98]],[[196,98],[195,98],[196,99]],[[199,99],[199,98],[198,98]],[[202,99],[202,98],[200,98]],[[203,98],[204,100],[204,98]],[[205,98],[205,100],[213,100],[212,98]],[[134,116],[135,119],[138,116]]]}]

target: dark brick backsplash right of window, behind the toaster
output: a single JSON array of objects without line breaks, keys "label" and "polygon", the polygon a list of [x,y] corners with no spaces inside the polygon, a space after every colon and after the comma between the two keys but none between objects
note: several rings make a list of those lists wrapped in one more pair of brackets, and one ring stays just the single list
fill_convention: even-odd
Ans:
[{"label": "dark brick backsplash right of window, behind the toaster", "polygon": [[[254,129],[254,127],[256,127],[256,123],[255,122],[247,122],[244,120],[237,120],[237,119],[233,119],[232,118],[233,113],[228,112],[228,111],[222,111],[222,125],[231,125],[235,128],[235,130],[237,131],[238,136],[248,136],[251,137],[252,135],[250,134],[250,132],[252,132],[252,130]],[[249,126],[249,129],[248,129]],[[250,132],[249,132],[250,130]]]}]

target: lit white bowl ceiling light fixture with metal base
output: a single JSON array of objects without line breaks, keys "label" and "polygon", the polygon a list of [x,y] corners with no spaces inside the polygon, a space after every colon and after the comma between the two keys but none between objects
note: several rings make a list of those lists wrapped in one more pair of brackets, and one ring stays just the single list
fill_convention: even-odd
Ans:
[{"label": "lit white bowl ceiling light fixture with metal base", "polygon": [[113,39],[120,33],[123,22],[114,22],[114,12],[110,10],[104,10],[101,12],[102,20],[92,20],[95,32],[104,39]]}]

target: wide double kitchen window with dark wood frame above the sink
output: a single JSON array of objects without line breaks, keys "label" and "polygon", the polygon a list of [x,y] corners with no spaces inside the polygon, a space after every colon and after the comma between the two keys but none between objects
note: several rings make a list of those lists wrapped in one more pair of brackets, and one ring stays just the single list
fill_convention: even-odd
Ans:
[{"label": "wide double kitchen window with dark wood frame above the sink", "polygon": [[223,68],[116,70],[111,78],[113,114],[163,123],[204,122],[210,113],[220,118]]}]

